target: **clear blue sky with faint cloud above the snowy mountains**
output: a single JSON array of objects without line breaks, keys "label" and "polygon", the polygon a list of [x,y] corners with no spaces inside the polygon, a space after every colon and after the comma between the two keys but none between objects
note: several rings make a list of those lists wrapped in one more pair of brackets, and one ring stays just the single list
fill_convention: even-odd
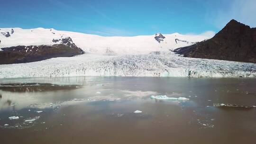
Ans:
[{"label": "clear blue sky with faint cloud above the snowy mountains", "polygon": [[234,18],[256,27],[256,0],[0,0],[0,27],[101,36],[212,35]]}]

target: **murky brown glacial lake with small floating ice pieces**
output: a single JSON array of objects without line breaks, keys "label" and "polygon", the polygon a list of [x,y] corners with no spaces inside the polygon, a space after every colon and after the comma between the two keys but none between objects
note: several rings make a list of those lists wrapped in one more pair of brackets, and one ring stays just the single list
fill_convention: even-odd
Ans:
[{"label": "murky brown glacial lake with small floating ice pieces", "polygon": [[255,136],[255,78],[0,79],[1,144],[255,144]]}]

